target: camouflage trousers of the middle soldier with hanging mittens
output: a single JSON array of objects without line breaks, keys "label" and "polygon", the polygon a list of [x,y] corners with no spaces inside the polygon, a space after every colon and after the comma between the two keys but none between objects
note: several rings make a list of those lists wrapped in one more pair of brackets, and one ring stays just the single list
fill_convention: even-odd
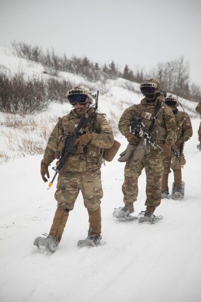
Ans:
[{"label": "camouflage trousers of the middle soldier with hanging mittens", "polygon": [[[145,168],[146,172],[146,202],[147,207],[156,208],[161,201],[161,181],[163,176],[162,156],[160,150],[151,150],[142,162],[137,166],[130,167],[126,163],[124,170],[124,183],[122,191],[124,194],[124,203],[128,206],[137,200],[138,196],[138,178]],[[131,207],[131,206],[130,206]]]}]

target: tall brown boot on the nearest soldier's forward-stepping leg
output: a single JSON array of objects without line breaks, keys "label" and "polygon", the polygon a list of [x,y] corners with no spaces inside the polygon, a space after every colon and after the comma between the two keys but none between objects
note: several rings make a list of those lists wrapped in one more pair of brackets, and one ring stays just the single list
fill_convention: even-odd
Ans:
[{"label": "tall brown boot on the nearest soldier's forward-stepping leg", "polygon": [[66,225],[66,221],[68,219],[68,215],[69,210],[60,208],[56,209],[49,235],[55,238],[57,243],[61,241],[61,237]]}]

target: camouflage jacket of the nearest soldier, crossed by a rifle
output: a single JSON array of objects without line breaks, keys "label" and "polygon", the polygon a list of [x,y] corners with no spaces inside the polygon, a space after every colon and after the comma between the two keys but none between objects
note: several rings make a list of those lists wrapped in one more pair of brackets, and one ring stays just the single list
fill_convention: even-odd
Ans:
[{"label": "camouflage jacket of the nearest soldier, crossed by a rifle", "polygon": [[[60,140],[67,132],[72,135],[75,131],[80,117],[71,110],[69,114],[60,118],[54,127],[45,149],[42,162],[48,165],[57,158]],[[70,154],[62,168],[65,171],[83,172],[85,170],[97,169],[103,163],[104,149],[112,147],[114,143],[113,130],[103,114],[97,114],[95,123],[96,132],[93,132],[93,119],[87,125],[92,133],[92,139],[86,147],[78,146],[74,154]],[[61,150],[60,150],[61,151]]]}]

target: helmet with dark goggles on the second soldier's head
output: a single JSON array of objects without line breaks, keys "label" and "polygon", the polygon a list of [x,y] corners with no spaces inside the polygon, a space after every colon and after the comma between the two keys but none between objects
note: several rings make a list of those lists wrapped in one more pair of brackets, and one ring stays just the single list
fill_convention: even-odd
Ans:
[{"label": "helmet with dark goggles on the second soldier's head", "polygon": [[149,79],[140,84],[140,90],[147,100],[154,100],[161,93],[161,86],[158,80]]}]

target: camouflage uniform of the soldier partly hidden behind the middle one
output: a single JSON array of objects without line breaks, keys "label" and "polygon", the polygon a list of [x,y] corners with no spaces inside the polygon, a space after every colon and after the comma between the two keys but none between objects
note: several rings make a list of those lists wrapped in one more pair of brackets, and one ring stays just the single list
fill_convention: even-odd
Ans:
[{"label": "camouflage uniform of the soldier partly hidden behind the middle one", "polygon": [[[175,145],[177,146],[174,150],[180,153],[181,136],[183,133],[183,142],[190,139],[192,136],[192,125],[190,118],[187,113],[178,111],[176,108],[173,109],[174,118],[177,126],[177,140]],[[181,167],[185,165],[186,161],[183,154],[183,147],[180,157],[176,157],[171,150],[171,153],[163,157],[164,174],[162,179],[162,190],[168,192],[168,175],[171,172],[170,168],[174,172],[174,186],[181,187]]]}]

